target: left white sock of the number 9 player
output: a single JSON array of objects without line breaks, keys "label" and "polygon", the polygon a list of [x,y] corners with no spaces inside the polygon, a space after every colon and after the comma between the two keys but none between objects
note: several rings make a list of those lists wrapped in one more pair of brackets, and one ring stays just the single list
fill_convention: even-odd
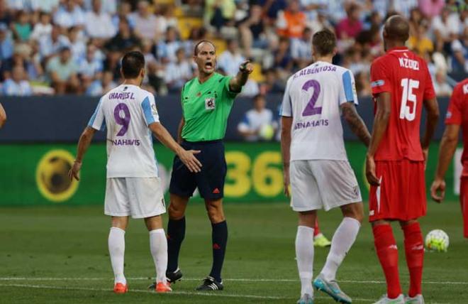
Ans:
[{"label": "left white sock of the number 9 player", "polygon": [[126,284],[123,275],[123,255],[125,254],[125,230],[112,227],[108,237],[109,255],[114,276],[114,283]]}]

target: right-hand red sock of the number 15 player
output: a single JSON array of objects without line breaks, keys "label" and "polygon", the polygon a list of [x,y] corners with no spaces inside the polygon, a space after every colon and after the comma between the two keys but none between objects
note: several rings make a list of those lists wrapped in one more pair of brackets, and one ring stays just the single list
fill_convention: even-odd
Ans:
[{"label": "right-hand red sock of the number 15 player", "polygon": [[403,227],[405,234],[406,264],[410,273],[410,289],[408,295],[414,297],[421,293],[423,280],[424,243],[419,223]]}]

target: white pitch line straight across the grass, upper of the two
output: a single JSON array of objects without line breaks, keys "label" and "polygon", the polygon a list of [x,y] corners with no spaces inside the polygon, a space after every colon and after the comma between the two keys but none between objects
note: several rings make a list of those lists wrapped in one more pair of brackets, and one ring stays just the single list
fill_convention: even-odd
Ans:
[{"label": "white pitch line straight across the grass, upper of the two", "polygon": [[[135,277],[128,278],[133,281],[152,281],[153,278]],[[0,277],[0,281],[110,281],[113,278],[34,278],[34,277]],[[201,281],[202,278],[183,278],[182,281]],[[299,282],[299,280],[291,278],[225,278],[223,281],[232,282]],[[352,281],[342,280],[341,283],[356,283],[356,284],[384,284],[385,281]],[[442,285],[468,285],[468,281],[423,281],[424,284],[442,284]]]}]

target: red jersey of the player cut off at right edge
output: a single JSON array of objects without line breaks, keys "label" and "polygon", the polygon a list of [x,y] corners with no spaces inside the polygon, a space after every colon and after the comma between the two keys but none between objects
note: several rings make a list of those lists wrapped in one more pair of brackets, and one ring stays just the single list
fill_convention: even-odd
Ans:
[{"label": "red jersey of the player cut off at right edge", "polygon": [[463,176],[468,176],[468,78],[460,82],[452,93],[445,124],[462,126],[463,133]]}]

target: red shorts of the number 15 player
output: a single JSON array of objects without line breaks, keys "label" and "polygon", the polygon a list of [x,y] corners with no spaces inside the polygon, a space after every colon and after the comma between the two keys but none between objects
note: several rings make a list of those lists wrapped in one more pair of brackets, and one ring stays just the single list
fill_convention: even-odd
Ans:
[{"label": "red shorts of the number 15 player", "polygon": [[423,161],[376,161],[379,187],[369,192],[369,222],[377,219],[407,221],[425,215],[426,194]]}]

